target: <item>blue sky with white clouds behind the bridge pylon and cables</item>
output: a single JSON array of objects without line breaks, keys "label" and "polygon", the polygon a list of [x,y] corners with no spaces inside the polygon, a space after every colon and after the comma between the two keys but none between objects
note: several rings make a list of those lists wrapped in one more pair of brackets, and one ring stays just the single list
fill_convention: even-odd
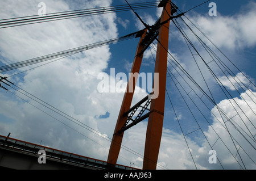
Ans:
[{"label": "blue sky with white clouds behind the bridge pylon and cables", "polygon": [[[47,14],[126,5],[123,0],[9,0],[0,2],[0,19],[37,15],[40,2],[46,4]],[[205,1],[173,2],[184,12]],[[210,2],[216,3],[216,16],[209,15]],[[196,52],[171,22],[168,52],[172,58],[168,61],[157,169],[256,169],[255,8],[256,1],[215,0],[182,16],[215,56],[211,53],[209,56],[196,36],[177,19]],[[152,25],[162,9],[154,7],[136,12]],[[0,66],[113,39],[143,28],[132,11],[0,28]],[[138,38],[125,40],[39,68],[31,69],[33,65],[1,73],[2,77],[9,77],[15,89],[0,89],[0,134],[11,133],[10,137],[19,140],[106,161],[125,87],[115,83],[126,85],[138,41]],[[154,73],[155,45],[144,52],[141,73]],[[230,72],[233,74],[229,75]],[[120,81],[118,73],[127,76]],[[114,92],[98,90],[102,81],[99,75],[108,75],[109,88],[115,89]],[[133,104],[150,92],[144,88],[142,84],[137,85]],[[43,105],[36,98],[43,100]],[[56,113],[59,111],[64,116]],[[144,120],[125,132],[119,164],[142,168],[146,129],[147,120]],[[210,150],[216,150],[217,163],[209,162]]]}]

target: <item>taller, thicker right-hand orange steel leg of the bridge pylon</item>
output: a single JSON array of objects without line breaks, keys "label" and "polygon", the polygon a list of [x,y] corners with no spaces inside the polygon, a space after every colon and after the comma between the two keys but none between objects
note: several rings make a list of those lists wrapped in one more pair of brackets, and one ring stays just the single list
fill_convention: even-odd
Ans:
[{"label": "taller, thicker right-hand orange steel leg of the bridge pylon", "polygon": [[[163,9],[161,22],[170,18],[171,1]],[[162,137],[164,102],[166,95],[166,73],[168,56],[168,38],[169,38],[170,20],[163,24],[159,29],[158,49],[156,52],[155,73],[159,75],[158,98],[151,100],[150,116],[148,117],[146,142],[144,149],[143,170],[155,170],[158,161],[160,141]]]}]

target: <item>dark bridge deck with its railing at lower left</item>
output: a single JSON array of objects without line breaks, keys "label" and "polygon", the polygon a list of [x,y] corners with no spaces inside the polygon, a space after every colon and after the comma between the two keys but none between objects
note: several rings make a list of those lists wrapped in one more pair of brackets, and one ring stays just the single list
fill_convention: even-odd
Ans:
[{"label": "dark bridge deck with its railing at lower left", "polygon": [[[46,152],[47,164],[38,163],[39,150]],[[123,165],[110,166],[107,162],[68,153],[42,145],[0,135],[0,166],[9,169],[93,169],[137,170]]]}]

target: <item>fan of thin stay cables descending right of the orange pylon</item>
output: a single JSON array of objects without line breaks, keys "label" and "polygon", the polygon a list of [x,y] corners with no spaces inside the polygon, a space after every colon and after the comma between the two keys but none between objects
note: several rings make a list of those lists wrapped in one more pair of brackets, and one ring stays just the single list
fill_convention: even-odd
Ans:
[{"label": "fan of thin stay cables descending right of the orange pylon", "polygon": [[[187,16],[186,16],[186,18],[187,18]],[[255,165],[255,158],[253,157],[253,154],[255,153],[255,147],[256,147],[255,146],[255,144],[256,144],[256,141],[255,141],[255,119],[251,120],[248,113],[245,113],[245,111],[243,111],[243,109],[240,106],[240,103],[237,102],[237,100],[234,98],[234,96],[231,94],[231,92],[228,91],[228,89],[226,89],[226,87],[222,84],[222,81],[218,78],[218,76],[215,73],[216,70],[214,71],[212,68],[210,68],[209,64],[211,62],[215,62],[216,68],[218,68],[218,70],[220,70],[222,72],[222,74],[225,75],[227,80],[230,83],[235,81],[236,85],[240,86],[239,88],[244,91],[244,94],[245,94],[247,100],[245,97],[243,97],[241,92],[238,91],[238,88],[236,88],[238,95],[241,94],[240,96],[241,96],[242,100],[246,103],[249,111],[251,113],[253,113],[253,114],[250,113],[251,117],[252,117],[252,115],[255,116],[255,112],[254,112],[253,108],[251,107],[251,105],[247,101],[249,100],[251,103],[255,104],[256,96],[250,89],[248,89],[248,87],[249,87],[249,85],[251,85],[251,87],[253,87],[253,89],[255,89],[255,85],[253,84],[253,82],[250,81],[249,78],[246,77],[245,74],[242,73],[243,76],[249,82],[249,85],[244,85],[244,83],[236,76],[236,74],[234,74],[232,69],[229,66],[227,66],[225,64],[225,62],[220,59],[220,57],[217,56],[216,52],[214,52],[211,48],[209,48],[208,45],[205,44],[202,39],[200,39],[200,37],[195,33],[195,31],[193,31],[192,28],[188,26],[188,24],[185,22],[185,20],[181,17],[179,17],[179,19],[180,19],[181,23],[183,23],[185,25],[185,27],[181,26],[181,24],[176,19],[172,19],[172,22],[176,26],[177,30],[184,37],[184,42],[185,42],[185,44],[187,44],[189,52],[192,55],[192,59],[195,61],[195,65],[197,66],[197,69],[199,69],[199,73],[200,73],[201,77],[203,78],[204,83],[208,89],[208,91],[202,89],[202,87],[195,81],[195,79],[193,77],[191,77],[191,75],[188,73],[188,71],[183,68],[183,66],[180,64],[180,62],[178,60],[176,60],[176,58],[174,56],[172,56],[172,54],[170,52],[168,52],[168,54],[169,54],[168,64],[170,65],[170,68],[168,68],[168,70],[167,70],[167,75],[168,75],[167,77],[171,78],[171,81],[172,81],[173,85],[175,85],[177,91],[179,92],[179,94],[184,102],[185,107],[187,107],[188,114],[191,115],[191,118],[189,118],[189,120],[191,119],[191,120],[195,121],[195,123],[196,123],[195,129],[191,129],[190,131],[188,131],[189,129],[184,130],[184,125],[181,126],[181,120],[179,120],[179,116],[177,115],[177,110],[174,107],[173,101],[171,100],[174,98],[171,98],[168,90],[166,90],[166,93],[167,93],[168,99],[170,100],[170,104],[174,111],[174,114],[176,116],[177,123],[179,124],[181,132],[183,133],[184,140],[188,146],[188,151],[189,151],[189,154],[191,155],[191,158],[195,165],[195,168],[197,169],[197,164],[195,161],[196,155],[193,155],[191,148],[189,147],[188,137],[191,134],[195,134],[198,131],[200,131],[202,136],[207,141],[209,148],[212,150],[213,150],[214,146],[217,145],[217,142],[221,142],[221,144],[224,145],[224,148],[226,148],[226,150],[229,151],[229,154],[231,155],[231,157],[233,157],[234,161],[237,162],[238,166],[240,166],[240,169],[246,169],[247,165],[244,162],[245,159],[249,159],[250,162]],[[191,20],[189,20],[189,22],[191,22]],[[195,26],[195,24],[193,24],[193,25]],[[202,56],[201,53],[199,53],[199,51],[197,50],[197,48],[195,46],[195,43],[193,43],[191,41],[191,38],[189,38],[188,33],[185,32],[184,28],[186,28],[186,31],[192,32],[192,35],[194,35],[196,37],[199,44],[203,47],[205,52],[207,52],[207,54],[210,56],[211,61],[209,61],[209,62],[205,61],[205,58]],[[201,33],[203,33],[203,32],[201,32]],[[204,33],[203,33],[203,35],[204,35]],[[205,37],[207,37],[207,36],[205,36]],[[208,37],[207,37],[207,39],[208,39]],[[161,44],[159,41],[158,41],[158,43]],[[210,43],[212,43],[212,41],[210,41]],[[214,47],[216,47],[216,45],[214,45]],[[156,43],[155,42],[151,45],[151,49],[153,49],[156,52]],[[194,52],[192,52],[192,49]],[[220,49],[218,49],[218,50],[220,50]],[[168,50],[166,49],[166,51],[168,51]],[[221,50],[220,50],[220,53],[223,54],[221,52]],[[217,83],[217,85],[219,85],[220,90],[222,91],[223,95],[226,97],[226,100],[229,101],[229,105],[236,112],[235,115],[230,116],[229,113],[226,113],[220,106],[218,106],[218,104],[216,103],[216,99],[214,98],[214,96],[212,94],[212,90],[209,89],[209,83],[206,81],[205,75],[202,73],[202,70],[201,70],[202,68],[200,68],[200,66],[198,65],[197,61],[199,61],[199,60],[196,60],[195,56],[199,57],[198,59],[203,62],[203,64],[205,65],[205,69],[209,70],[209,73],[212,75],[213,80],[216,81],[216,83]],[[230,61],[228,57],[226,57],[226,58],[228,59],[228,61]],[[171,68],[172,68],[172,70],[171,70]],[[239,70],[235,65],[234,65],[234,68],[236,68],[239,72],[241,72],[241,70]],[[182,80],[183,83],[181,83],[181,81],[179,80],[179,78],[177,76],[179,76],[179,78]],[[197,89],[195,89],[195,87],[193,87],[191,85],[191,83]],[[236,86],[234,86],[234,87],[236,87]],[[192,94],[192,92],[193,92],[193,94]],[[203,95],[200,95],[198,92],[201,92],[201,94],[203,94]],[[218,115],[216,115],[216,113],[212,112],[212,109],[210,108],[211,106],[209,106],[207,104],[207,102],[205,100],[203,100],[203,96],[204,96],[204,98],[207,98],[209,103],[212,104],[217,109]],[[212,124],[210,123],[211,120],[209,120],[209,118],[207,118],[206,112],[201,110],[202,107],[207,109],[207,111],[212,114],[214,119],[216,119],[218,121],[218,123],[220,123],[221,127],[223,127],[225,132],[228,133],[228,135],[230,137],[230,142],[232,142],[233,146],[228,145],[224,141],[226,139],[226,137],[221,137],[220,133],[217,132],[215,128],[213,128]],[[208,140],[208,137],[205,135],[204,129],[202,128],[201,120],[200,121],[198,120],[198,117],[199,117],[198,114],[201,115],[201,120],[205,120],[208,127],[210,127],[213,130],[213,132],[216,134],[216,137],[217,137],[216,141],[210,142]],[[220,116],[221,119],[218,116]],[[234,120],[235,118],[236,118],[236,120],[239,120],[239,122],[241,124],[238,124],[237,121]],[[187,125],[187,122],[183,123],[183,124]],[[230,130],[232,130],[232,132]],[[236,132],[234,132],[234,131],[236,131]],[[238,135],[240,135],[240,137],[237,137],[237,135],[234,136],[234,134],[238,134]],[[246,150],[245,145],[244,145],[245,142],[246,142],[247,146],[250,147],[250,150],[254,150],[254,151]],[[246,147],[246,148],[248,149],[248,147]],[[223,164],[222,160],[219,159],[219,157],[220,156],[217,157],[218,163],[220,163],[220,166],[222,167],[222,169],[225,169],[224,164]]]}]

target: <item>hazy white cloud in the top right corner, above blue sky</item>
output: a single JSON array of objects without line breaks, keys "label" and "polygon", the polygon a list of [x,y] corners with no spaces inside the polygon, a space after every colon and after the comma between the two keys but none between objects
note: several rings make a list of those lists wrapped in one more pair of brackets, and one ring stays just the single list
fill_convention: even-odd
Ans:
[{"label": "hazy white cloud in the top right corner, above blue sky", "polygon": [[[240,49],[256,45],[255,30],[256,13],[255,2],[250,2],[243,11],[234,16],[194,15],[193,19],[200,29],[219,48]],[[205,41],[207,42],[207,41]]]}]

